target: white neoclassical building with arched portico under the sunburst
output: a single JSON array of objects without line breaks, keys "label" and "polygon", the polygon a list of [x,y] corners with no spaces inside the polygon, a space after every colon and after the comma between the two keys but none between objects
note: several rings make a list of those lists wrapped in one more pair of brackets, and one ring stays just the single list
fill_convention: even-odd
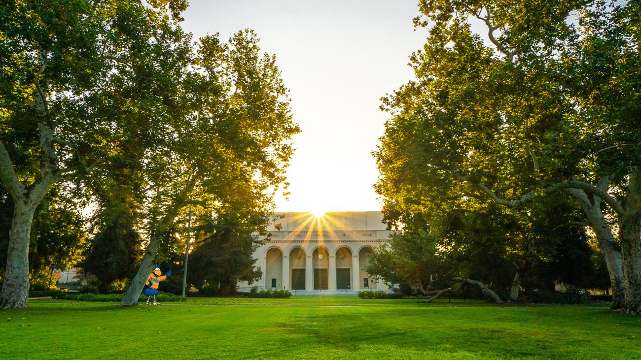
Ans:
[{"label": "white neoclassical building with arched portico under the sunburst", "polygon": [[299,295],[389,290],[363,271],[372,250],[389,240],[390,231],[380,211],[277,215],[278,220],[268,228],[271,240],[254,252],[262,279],[251,285],[240,282],[238,290],[258,286]]}]

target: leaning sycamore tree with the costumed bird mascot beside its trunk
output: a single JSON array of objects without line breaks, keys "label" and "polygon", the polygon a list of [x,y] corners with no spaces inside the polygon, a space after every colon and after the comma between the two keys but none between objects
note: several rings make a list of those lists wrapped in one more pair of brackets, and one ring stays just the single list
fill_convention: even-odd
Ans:
[{"label": "leaning sycamore tree with the costumed bird mascot beside its trunk", "polygon": [[161,239],[186,206],[269,213],[294,151],[288,90],[251,30],[201,38],[168,113],[167,141],[142,158],[149,242],[121,306],[137,304]]}]

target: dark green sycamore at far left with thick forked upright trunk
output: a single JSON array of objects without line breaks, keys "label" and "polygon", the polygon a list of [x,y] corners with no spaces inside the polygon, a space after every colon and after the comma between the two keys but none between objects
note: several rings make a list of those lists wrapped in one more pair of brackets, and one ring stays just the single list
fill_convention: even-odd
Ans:
[{"label": "dark green sycamore at far left with thick forked upright trunk", "polygon": [[[0,5],[0,182],[13,199],[4,308],[28,295],[31,221],[53,184],[91,172],[118,148],[137,108],[158,118],[149,94],[167,68],[184,1],[4,1]],[[166,56],[149,56],[149,54]],[[144,83],[126,107],[112,102],[119,79]],[[150,106],[151,105],[151,106]],[[66,183],[69,187],[69,183]]]}]

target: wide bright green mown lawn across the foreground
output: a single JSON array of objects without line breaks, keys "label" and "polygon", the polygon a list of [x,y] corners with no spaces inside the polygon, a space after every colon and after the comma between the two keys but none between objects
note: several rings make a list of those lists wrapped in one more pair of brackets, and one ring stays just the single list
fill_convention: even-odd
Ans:
[{"label": "wide bright green mown lawn across the foreground", "polygon": [[8,359],[641,359],[641,316],[603,305],[293,297],[121,309],[31,300],[0,316],[0,357]]}]

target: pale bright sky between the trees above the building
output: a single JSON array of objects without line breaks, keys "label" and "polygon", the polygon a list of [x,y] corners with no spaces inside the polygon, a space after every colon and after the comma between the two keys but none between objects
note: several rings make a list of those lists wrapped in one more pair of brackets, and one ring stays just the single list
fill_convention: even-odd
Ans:
[{"label": "pale bright sky between the trees above the building", "polygon": [[387,114],[379,98],[413,78],[408,56],[418,0],[191,1],[183,28],[196,38],[256,30],[276,54],[302,132],[287,170],[291,195],[276,211],[374,211],[376,148]]}]

